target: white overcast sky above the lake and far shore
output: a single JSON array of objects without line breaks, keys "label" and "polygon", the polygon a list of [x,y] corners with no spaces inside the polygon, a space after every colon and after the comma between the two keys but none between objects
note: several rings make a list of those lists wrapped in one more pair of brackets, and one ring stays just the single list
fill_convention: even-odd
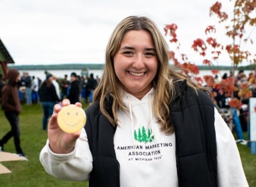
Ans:
[{"label": "white overcast sky above the lake and far shore", "polygon": [[[205,38],[207,26],[218,24],[216,17],[209,17],[215,2],[0,0],[0,38],[15,64],[104,63],[116,24],[129,15],[140,15],[154,20],[161,31],[166,24],[177,24],[180,52],[192,63],[202,64],[191,45],[196,38]],[[221,63],[229,61],[226,56]]]}]

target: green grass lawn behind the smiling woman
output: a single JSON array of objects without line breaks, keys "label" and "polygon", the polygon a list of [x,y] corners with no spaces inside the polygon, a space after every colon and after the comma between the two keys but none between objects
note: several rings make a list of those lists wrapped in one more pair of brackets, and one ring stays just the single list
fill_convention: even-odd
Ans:
[{"label": "green grass lawn behind the smiling woman", "polygon": [[[83,106],[84,103],[83,103]],[[28,154],[28,161],[7,161],[2,164],[12,174],[0,175],[0,186],[88,186],[87,182],[62,181],[47,174],[39,161],[39,154],[47,139],[47,132],[42,130],[42,108],[40,104],[22,105],[20,114],[21,146]],[[0,138],[10,130],[3,110],[0,110]],[[245,135],[246,136],[246,135]],[[256,186],[256,154],[250,148],[237,144],[244,171],[250,186]],[[4,145],[5,151],[15,153],[13,138]]]}]

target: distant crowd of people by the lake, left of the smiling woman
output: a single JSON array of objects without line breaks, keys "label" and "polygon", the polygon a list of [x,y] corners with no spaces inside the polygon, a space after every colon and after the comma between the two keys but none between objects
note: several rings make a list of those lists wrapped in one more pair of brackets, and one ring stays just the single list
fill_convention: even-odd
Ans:
[{"label": "distant crowd of people by the lake, left of the smiling woman", "polygon": [[[49,73],[45,75],[45,80],[41,80],[39,77],[31,77],[27,72],[24,72],[18,82],[20,101],[26,103],[26,105],[40,103],[40,89],[44,81],[49,79],[49,76],[52,77],[50,82],[54,85],[59,101],[64,98],[71,98],[75,101],[84,100],[85,103],[90,103],[92,102],[93,90],[97,87],[100,81],[98,76],[95,79],[93,73],[84,78],[83,76],[77,75],[73,72],[70,74],[70,79],[68,79],[67,74],[61,78]],[[1,75],[0,89],[5,84],[2,77],[3,76]],[[77,98],[79,99],[77,100]]]}]

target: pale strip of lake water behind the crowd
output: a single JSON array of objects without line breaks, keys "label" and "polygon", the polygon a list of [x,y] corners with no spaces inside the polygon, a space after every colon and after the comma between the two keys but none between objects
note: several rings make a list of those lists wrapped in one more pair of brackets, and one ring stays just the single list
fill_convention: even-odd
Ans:
[{"label": "pale strip of lake water behind the crowd", "polygon": [[[41,80],[45,80],[44,70],[22,70],[20,71],[20,75],[22,75],[23,72],[28,72],[31,77],[35,76],[35,77],[39,77]],[[67,74],[68,79],[70,78],[70,74],[72,72],[76,72],[77,75],[80,75],[80,76],[84,75],[81,70],[48,70],[48,72],[51,73],[52,75],[55,75],[58,78],[63,78],[64,75]],[[237,75],[237,72],[238,71],[235,72],[235,75]],[[252,71],[249,71],[249,70],[244,71],[247,77],[250,72]],[[94,77],[96,76],[102,77],[103,70],[89,70],[88,75],[90,75],[90,73],[93,73]],[[227,75],[229,75],[228,70],[221,70],[219,77],[221,78],[224,73],[227,73]],[[212,75],[211,70],[200,70],[198,77],[202,77],[204,75]]]}]

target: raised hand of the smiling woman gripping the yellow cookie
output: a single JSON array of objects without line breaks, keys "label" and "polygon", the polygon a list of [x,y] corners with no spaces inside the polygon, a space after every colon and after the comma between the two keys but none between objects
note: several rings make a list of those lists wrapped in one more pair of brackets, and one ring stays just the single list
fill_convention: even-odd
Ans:
[{"label": "raised hand of the smiling woman gripping the yellow cookie", "polygon": [[[76,140],[79,138],[81,131],[76,133],[65,133],[61,130],[57,123],[58,113],[62,107],[70,105],[70,101],[65,99],[62,101],[61,105],[54,105],[54,112],[49,120],[48,124],[48,138],[49,146],[53,153],[57,154],[67,154],[73,151]],[[82,107],[81,103],[76,103],[77,107]]]}]

